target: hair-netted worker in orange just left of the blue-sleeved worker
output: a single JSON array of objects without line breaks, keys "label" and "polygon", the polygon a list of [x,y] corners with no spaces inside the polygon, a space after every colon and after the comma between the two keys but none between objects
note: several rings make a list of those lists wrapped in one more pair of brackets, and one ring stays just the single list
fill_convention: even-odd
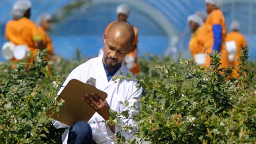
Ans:
[{"label": "hair-netted worker in orange just left of the blue-sleeved worker", "polygon": [[203,20],[198,15],[190,15],[188,17],[188,22],[190,30],[193,32],[189,41],[189,50],[191,52],[191,56],[195,59],[196,54],[203,52],[202,46],[199,46],[199,41],[197,40],[197,35],[201,31]]}]

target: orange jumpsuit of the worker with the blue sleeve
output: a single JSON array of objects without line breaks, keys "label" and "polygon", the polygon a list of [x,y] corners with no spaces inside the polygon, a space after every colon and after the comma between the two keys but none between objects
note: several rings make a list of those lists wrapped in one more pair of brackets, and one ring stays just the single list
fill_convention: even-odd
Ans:
[{"label": "orange jumpsuit of the worker with the blue sleeve", "polygon": [[[225,19],[222,14],[222,11],[219,9],[213,10],[208,18],[206,19],[205,24],[202,26],[202,33],[200,34],[200,37],[203,39],[203,49],[206,53],[212,53],[212,47],[214,44],[214,35],[213,35],[213,25],[220,25],[222,26],[222,44],[220,47],[220,52],[222,55],[220,55],[220,65],[219,68],[228,68],[229,67],[229,59],[228,59],[228,52],[226,51],[225,46],[225,38],[226,38],[226,25],[225,25]],[[206,56],[206,67],[209,67],[211,64],[211,57]]]}]

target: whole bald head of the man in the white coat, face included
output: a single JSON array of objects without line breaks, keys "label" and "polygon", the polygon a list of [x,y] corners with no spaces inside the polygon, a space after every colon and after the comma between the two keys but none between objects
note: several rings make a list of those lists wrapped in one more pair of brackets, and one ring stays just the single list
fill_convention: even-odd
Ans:
[{"label": "whole bald head of the man in the white coat, face included", "polygon": [[131,51],[135,34],[133,27],[124,21],[114,22],[104,34],[104,55],[102,61],[109,71],[120,67]]}]

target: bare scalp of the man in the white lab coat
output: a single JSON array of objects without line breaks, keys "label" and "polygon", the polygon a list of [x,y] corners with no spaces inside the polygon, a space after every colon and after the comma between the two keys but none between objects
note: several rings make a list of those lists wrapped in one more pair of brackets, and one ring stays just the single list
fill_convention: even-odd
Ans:
[{"label": "bare scalp of the man in the white lab coat", "polygon": [[109,27],[107,35],[129,39],[131,45],[135,39],[133,27],[124,21],[115,21]]}]

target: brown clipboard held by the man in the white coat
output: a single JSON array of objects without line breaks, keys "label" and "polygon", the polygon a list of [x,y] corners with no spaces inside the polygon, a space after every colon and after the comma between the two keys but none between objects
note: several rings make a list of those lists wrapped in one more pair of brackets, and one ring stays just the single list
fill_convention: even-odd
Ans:
[{"label": "brown clipboard held by the man in the white coat", "polygon": [[57,115],[57,112],[52,115],[51,108],[46,112],[46,115],[52,115],[51,118],[69,126],[79,121],[88,122],[96,111],[85,101],[81,100],[81,97],[85,93],[91,92],[96,93],[102,100],[107,98],[106,92],[97,89],[89,83],[84,83],[76,79],[70,80],[56,99],[56,101],[65,100],[65,103],[60,107],[59,115]]}]

